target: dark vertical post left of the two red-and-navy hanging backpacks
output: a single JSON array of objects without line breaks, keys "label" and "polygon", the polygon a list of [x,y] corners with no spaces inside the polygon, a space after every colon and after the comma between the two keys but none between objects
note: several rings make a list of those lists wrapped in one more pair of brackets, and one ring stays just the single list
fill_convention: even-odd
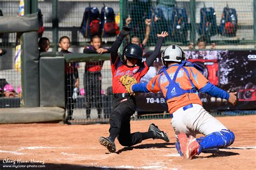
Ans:
[{"label": "dark vertical post left of the two red-and-navy hanging backpacks", "polygon": [[58,51],[58,28],[58,0],[52,0],[52,42],[54,44],[52,51]]}]

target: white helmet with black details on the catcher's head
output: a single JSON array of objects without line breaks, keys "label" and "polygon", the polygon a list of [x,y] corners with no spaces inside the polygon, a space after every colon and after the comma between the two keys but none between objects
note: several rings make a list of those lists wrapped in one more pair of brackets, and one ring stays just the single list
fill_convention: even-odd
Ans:
[{"label": "white helmet with black details on the catcher's head", "polygon": [[181,62],[186,60],[185,53],[178,45],[169,45],[162,52],[161,59],[163,64],[166,66],[165,62]]}]

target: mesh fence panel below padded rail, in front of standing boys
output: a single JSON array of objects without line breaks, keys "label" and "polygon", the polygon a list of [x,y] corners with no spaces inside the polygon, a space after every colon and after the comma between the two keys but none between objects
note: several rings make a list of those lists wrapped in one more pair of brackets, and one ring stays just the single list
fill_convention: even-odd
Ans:
[{"label": "mesh fence panel below padded rail, in front of standing boys", "polygon": [[[101,70],[95,70],[102,66]],[[72,123],[107,121],[112,112],[112,74],[110,60],[80,62],[79,87],[68,88],[66,116]],[[70,77],[66,77],[71,82]],[[68,83],[68,84],[70,84]],[[75,82],[71,86],[74,86]],[[77,96],[76,96],[77,95]]]}]

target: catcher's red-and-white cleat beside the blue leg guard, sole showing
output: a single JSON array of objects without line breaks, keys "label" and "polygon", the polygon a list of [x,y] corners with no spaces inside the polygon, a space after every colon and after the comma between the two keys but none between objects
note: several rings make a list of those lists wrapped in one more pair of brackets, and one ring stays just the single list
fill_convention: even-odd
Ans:
[{"label": "catcher's red-and-white cleat beside the blue leg guard, sole showing", "polygon": [[195,155],[197,155],[199,146],[200,145],[197,139],[190,135],[190,137],[188,137],[188,140],[187,140],[186,152],[184,153],[184,158],[191,159]]}]

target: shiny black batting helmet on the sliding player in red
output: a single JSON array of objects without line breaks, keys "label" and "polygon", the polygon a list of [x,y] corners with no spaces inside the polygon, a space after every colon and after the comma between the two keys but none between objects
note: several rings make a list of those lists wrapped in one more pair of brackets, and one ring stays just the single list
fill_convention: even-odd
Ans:
[{"label": "shiny black batting helmet on the sliding player in red", "polygon": [[123,53],[121,55],[122,62],[126,64],[126,57],[138,59],[138,63],[142,62],[143,50],[137,44],[130,43],[124,47]]}]

